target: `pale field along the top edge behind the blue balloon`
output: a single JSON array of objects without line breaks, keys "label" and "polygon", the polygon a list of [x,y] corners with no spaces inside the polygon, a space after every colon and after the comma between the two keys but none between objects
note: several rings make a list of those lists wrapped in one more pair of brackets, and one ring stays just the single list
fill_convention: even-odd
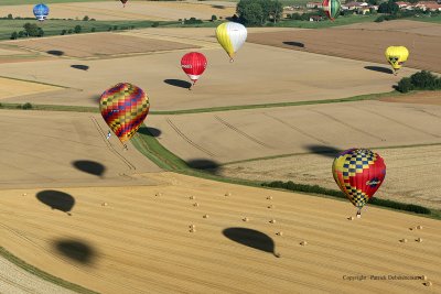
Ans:
[{"label": "pale field along the top edge behind the blue balloon", "polygon": [[[67,1],[66,1],[67,2]],[[2,11],[14,17],[33,18],[33,6],[6,6]],[[213,14],[223,18],[232,17],[236,12],[236,3],[223,1],[129,1],[122,8],[119,1],[99,2],[67,2],[50,4],[49,19],[79,19],[85,15],[96,20],[150,20],[178,21],[179,19],[209,20]],[[3,15],[1,15],[3,17]]]}]

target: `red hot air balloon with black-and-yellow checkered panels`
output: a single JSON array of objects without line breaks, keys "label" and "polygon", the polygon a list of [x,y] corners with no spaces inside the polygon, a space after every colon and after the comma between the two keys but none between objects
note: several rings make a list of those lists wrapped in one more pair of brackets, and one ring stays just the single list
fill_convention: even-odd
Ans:
[{"label": "red hot air balloon with black-and-yellow checkered panels", "polygon": [[332,164],[332,173],[340,189],[358,208],[374,196],[386,176],[383,159],[367,149],[349,149],[340,153]]}]

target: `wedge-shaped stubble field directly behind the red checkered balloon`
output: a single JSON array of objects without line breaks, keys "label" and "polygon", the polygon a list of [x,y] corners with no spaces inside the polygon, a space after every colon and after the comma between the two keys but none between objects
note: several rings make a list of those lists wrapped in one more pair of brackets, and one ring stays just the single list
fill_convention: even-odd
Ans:
[{"label": "wedge-shaped stubble field directly behind the red checkered balloon", "polygon": [[[347,145],[347,148],[364,145]],[[331,166],[341,149],[313,146],[310,153],[220,166],[218,175],[262,182],[292,181],[338,189]],[[408,148],[374,149],[387,164],[378,198],[441,209],[441,143]]]}]

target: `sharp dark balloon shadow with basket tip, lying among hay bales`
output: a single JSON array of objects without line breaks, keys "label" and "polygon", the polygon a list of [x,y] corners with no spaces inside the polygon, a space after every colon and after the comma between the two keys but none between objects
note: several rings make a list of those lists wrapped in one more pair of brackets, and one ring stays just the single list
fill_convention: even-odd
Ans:
[{"label": "sharp dark balloon shadow with basket tip, lying among hay bales", "polygon": [[239,244],[247,246],[278,257],[276,244],[268,235],[247,228],[227,228],[222,232],[226,238]]}]

